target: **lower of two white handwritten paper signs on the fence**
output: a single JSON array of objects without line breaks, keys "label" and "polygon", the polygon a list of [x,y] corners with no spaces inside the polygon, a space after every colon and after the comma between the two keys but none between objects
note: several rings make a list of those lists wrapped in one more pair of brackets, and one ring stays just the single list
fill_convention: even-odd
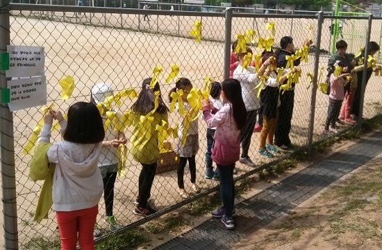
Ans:
[{"label": "lower of two white handwritten paper signs on the fence", "polygon": [[47,79],[45,76],[7,81],[10,90],[10,111],[47,104]]}]

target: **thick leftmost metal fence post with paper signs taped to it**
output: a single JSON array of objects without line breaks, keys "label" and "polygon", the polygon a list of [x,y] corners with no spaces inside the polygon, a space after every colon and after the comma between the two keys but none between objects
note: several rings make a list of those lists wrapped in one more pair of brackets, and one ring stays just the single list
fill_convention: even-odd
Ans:
[{"label": "thick leftmost metal fence post with paper signs taped to it", "polygon": [[[0,15],[0,53],[6,53],[7,45],[10,44],[9,13],[9,0],[3,0]],[[6,90],[7,78],[5,70],[0,71],[0,85],[1,90]],[[4,247],[5,249],[19,249],[13,114],[6,103],[0,103],[0,132]]]}]

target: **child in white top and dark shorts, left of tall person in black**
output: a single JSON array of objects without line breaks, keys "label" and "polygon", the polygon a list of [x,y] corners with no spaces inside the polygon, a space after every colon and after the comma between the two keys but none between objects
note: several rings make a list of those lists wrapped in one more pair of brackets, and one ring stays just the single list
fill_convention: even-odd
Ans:
[{"label": "child in white top and dark shorts, left of tall person in black", "polygon": [[[263,53],[261,58],[262,63],[267,67],[264,75],[269,78],[265,81],[263,90],[260,92],[260,101],[263,107],[263,128],[260,134],[260,140],[258,142],[258,152],[267,157],[273,157],[272,153],[280,153],[279,149],[273,144],[274,129],[276,127],[276,115],[277,115],[277,101],[279,99],[279,85],[283,84],[286,80],[285,73],[280,77],[279,82],[276,81],[277,73],[276,69],[276,54],[272,52]],[[273,66],[273,70],[270,66]],[[267,144],[265,144],[267,141]]]}]

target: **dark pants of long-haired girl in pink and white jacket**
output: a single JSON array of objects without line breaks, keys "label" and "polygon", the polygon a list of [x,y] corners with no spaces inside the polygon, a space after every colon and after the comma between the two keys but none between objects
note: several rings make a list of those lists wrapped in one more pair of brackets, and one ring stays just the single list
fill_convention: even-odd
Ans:
[{"label": "dark pants of long-haired girl in pink and white jacket", "polygon": [[233,168],[235,163],[227,166],[217,165],[220,174],[220,198],[226,211],[226,217],[232,217],[235,203],[235,183],[233,182]]}]

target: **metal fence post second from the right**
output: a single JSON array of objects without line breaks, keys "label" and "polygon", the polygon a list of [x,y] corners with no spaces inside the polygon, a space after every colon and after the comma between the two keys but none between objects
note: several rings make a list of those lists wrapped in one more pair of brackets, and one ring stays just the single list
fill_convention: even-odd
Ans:
[{"label": "metal fence post second from the right", "polygon": [[316,35],[316,49],[315,49],[315,69],[313,76],[312,97],[310,99],[310,119],[309,119],[309,133],[308,133],[308,155],[313,151],[313,129],[315,126],[315,106],[316,106],[316,94],[317,94],[317,78],[319,68],[319,48],[321,47],[321,33],[322,24],[324,23],[324,12],[318,12],[318,27]]}]

